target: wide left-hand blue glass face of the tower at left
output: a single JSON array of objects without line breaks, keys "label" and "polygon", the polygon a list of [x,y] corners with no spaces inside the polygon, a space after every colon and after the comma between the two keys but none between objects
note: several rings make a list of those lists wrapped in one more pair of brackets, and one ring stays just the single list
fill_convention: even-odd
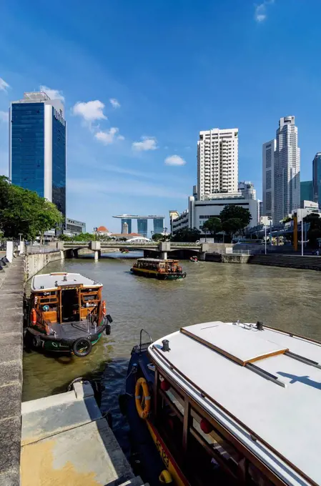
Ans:
[{"label": "wide left-hand blue glass face of the tower at left", "polygon": [[11,105],[11,182],[44,197],[44,104]]}]

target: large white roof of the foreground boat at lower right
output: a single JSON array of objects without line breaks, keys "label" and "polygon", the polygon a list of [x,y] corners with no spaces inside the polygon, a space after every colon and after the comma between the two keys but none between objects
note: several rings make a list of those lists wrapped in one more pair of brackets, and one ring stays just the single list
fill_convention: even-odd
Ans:
[{"label": "large white roof of the foreground boat at lower right", "polygon": [[321,484],[321,343],[217,321],[182,327],[149,354],[285,484]]}]

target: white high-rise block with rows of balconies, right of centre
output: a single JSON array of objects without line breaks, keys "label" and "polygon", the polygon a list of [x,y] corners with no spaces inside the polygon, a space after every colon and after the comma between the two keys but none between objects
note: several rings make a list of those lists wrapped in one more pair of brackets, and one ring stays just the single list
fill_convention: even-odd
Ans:
[{"label": "white high-rise block with rows of balconies, right of centre", "polygon": [[199,132],[197,142],[197,198],[219,192],[237,192],[237,128]]}]

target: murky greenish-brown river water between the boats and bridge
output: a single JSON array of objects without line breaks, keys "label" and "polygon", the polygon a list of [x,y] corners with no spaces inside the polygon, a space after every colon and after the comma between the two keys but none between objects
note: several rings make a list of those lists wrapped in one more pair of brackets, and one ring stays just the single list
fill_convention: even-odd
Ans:
[{"label": "murky greenish-brown river water between the boats and bridge", "polygon": [[174,282],[132,275],[132,260],[124,256],[47,265],[41,273],[79,272],[104,284],[107,311],[114,319],[112,334],[104,334],[84,358],[24,352],[23,400],[64,392],[76,377],[101,377],[105,387],[102,412],[112,412],[117,431],[124,425],[117,397],[142,328],[157,339],[197,322],[260,320],[321,340],[319,272],[212,262],[182,264],[187,278]]}]

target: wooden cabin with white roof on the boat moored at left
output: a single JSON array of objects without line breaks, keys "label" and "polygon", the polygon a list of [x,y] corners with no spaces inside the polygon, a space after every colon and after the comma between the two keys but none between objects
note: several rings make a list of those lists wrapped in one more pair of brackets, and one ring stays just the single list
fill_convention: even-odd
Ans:
[{"label": "wooden cabin with white roof on the boat moored at left", "polygon": [[79,322],[89,315],[102,319],[102,284],[81,274],[36,275],[30,298],[31,308],[48,323]]}]

